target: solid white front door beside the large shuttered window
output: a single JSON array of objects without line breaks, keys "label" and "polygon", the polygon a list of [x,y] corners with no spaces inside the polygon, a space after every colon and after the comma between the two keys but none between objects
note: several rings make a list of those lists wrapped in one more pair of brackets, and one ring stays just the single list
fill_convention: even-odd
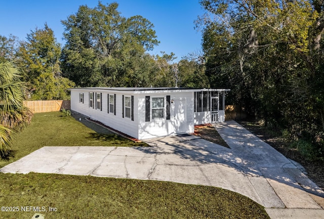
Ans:
[{"label": "solid white front door beside the large shuttered window", "polygon": [[186,100],[174,100],[175,133],[186,132]]}]

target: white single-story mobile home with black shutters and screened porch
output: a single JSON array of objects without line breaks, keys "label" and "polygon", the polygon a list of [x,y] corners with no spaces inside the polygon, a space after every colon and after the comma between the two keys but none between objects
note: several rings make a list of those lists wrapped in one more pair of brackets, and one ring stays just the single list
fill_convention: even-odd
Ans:
[{"label": "white single-story mobile home with black shutters and screened porch", "polygon": [[136,139],[193,133],[225,120],[226,89],[84,87],[71,90],[71,110]]}]

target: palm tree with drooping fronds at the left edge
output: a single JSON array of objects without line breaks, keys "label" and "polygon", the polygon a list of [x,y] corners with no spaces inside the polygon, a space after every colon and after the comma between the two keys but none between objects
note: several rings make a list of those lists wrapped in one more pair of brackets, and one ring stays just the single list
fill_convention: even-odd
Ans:
[{"label": "palm tree with drooping fronds at the left edge", "polygon": [[30,122],[31,112],[23,105],[24,82],[11,62],[0,63],[0,156],[11,151],[11,135]]}]

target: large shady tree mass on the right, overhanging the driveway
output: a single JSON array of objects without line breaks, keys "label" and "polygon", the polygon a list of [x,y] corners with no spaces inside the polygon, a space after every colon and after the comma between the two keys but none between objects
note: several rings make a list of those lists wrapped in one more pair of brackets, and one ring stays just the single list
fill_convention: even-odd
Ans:
[{"label": "large shady tree mass on the right, overhanging the driveway", "polygon": [[[322,1],[203,0],[197,20],[212,83],[266,125],[322,151]],[[313,4],[313,5],[312,5]]]}]

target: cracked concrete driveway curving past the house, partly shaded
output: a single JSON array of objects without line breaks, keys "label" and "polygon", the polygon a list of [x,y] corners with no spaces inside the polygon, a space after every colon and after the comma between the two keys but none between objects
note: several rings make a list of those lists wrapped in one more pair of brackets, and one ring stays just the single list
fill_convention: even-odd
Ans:
[{"label": "cracked concrete driveway curving past the house, partly shaded", "polygon": [[235,121],[215,128],[230,149],[196,136],[147,140],[152,147],[43,147],[0,171],[215,186],[250,197],[271,218],[324,218],[324,192],[302,166]]}]

